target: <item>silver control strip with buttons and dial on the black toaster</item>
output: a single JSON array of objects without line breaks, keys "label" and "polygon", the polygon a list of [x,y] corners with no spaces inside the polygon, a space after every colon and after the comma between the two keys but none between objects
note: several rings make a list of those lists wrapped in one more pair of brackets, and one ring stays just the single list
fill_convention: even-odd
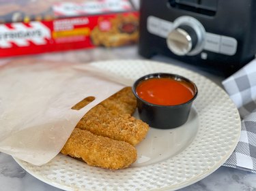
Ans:
[{"label": "silver control strip with buttons and dial on the black toaster", "polygon": [[201,22],[191,16],[181,16],[173,22],[149,16],[147,31],[167,39],[169,50],[179,56],[193,56],[203,50],[232,56],[238,46],[233,37],[208,33]]}]

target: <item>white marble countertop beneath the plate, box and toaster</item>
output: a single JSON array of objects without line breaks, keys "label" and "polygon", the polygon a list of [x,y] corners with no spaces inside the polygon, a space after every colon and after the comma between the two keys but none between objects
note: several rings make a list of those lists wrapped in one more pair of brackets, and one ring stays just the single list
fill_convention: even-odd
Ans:
[{"label": "white marble countertop beneath the plate, box and toaster", "polygon": [[[105,49],[96,48],[91,50],[77,50],[70,52],[60,52],[55,54],[41,54],[35,56],[36,58],[43,58],[47,60],[65,60],[76,63],[89,63],[96,60],[113,60],[113,59],[144,59],[137,53],[137,46],[129,46],[124,48]],[[199,71],[197,68],[185,65],[183,63],[177,63],[174,60],[165,58],[162,56],[155,56],[153,60],[160,60],[166,63],[175,63],[175,65],[182,65],[182,67],[189,68],[197,71],[202,75],[206,75],[216,84],[221,86],[222,77],[210,75],[203,71]],[[3,59],[0,60],[0,64]],[[238,190],[256,190],[256,174],[248,173],[246,171],[240,171],[228,167],[220,167],[214,173],[205,177],[201,181],[190,185],[186,188],[182,188],[182,191],[238,191]],[[55,188],[44,182],[31,176],[25,170],[23,170],[12,158],[7,154],[0,153],[0,191],[23,191],[23,190],[37,190],[37,191],[59,191],[59,188]]]}]

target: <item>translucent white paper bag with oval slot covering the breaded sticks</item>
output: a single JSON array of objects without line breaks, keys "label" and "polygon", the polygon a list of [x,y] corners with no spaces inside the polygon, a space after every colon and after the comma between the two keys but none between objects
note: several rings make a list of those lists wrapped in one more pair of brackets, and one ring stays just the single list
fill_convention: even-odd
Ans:
[{"label": "translucent white paper bag with oval slot covering the breaded sticks", "polygon": [[[72,67],[30,59],[0,67],[0,152],[45,164],[91,107],[124,87]],[[96,99],[71,109],[89,96]]]}]

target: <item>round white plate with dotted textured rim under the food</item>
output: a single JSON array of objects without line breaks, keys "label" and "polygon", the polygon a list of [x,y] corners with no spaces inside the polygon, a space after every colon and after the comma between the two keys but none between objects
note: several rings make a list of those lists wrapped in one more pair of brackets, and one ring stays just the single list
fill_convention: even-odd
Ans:
[{"label": "round white plate with dotted textured rim under the food", "polygon": [[137,162],[128,169],[89,167],[62,154],[41,167],[15,158],[34,177],[63,190],[177,190],[210,175],[236,147],[240,137],[238,110],[224,90],[205,77],[145,60],[92,65],[132,80],[155,72],[188,77],[199,89],[188,122],[171,130],[150,128],[146,139],[137,146]]}]

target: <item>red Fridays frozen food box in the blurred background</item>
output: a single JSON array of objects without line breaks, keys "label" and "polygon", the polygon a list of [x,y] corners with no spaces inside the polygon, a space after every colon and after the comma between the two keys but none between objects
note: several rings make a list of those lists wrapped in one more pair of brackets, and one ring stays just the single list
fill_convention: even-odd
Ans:
[{"label": "red Fridays frozen food box in the blurred background", "polygon": [[129,0],[0,0],[0,57],[135,44]]}]

